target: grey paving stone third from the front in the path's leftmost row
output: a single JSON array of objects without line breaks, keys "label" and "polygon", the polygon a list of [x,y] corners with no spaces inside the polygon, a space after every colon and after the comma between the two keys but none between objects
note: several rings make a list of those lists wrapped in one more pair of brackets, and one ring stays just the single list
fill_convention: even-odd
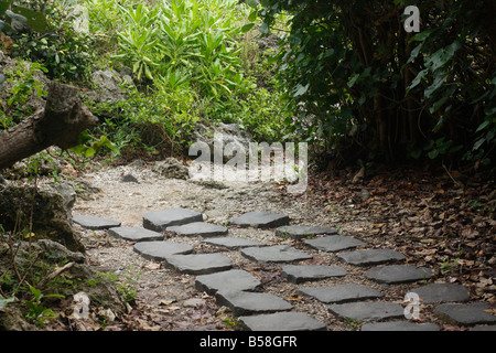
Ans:
[{"label": "grey paving stone third from the front in the path's leftmost row", "polygon": [[214,296],[218,290],[256,290],[261,282],[241,269],[203,275],[196,277],[195,288]]}]

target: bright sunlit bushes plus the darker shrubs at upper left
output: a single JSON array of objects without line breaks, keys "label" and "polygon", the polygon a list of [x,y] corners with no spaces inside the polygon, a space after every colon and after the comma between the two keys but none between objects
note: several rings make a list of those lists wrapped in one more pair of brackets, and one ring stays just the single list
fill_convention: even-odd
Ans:
[{"label": "bright sunlit bushes plus the darker shrubs at upper left", "polygon": [[[9,33],[12,54],[47,68],[52,79],[90,86],[97,68],[132,72],[126,100],[87,101],[101,124],[76,149],[91,156],[95,141],[144,152],[184,149],[198,120],[237,122],[259,140],[283,136],[277,82],[255,43],[249,8],[236,0],[80,0],[88,32],[76,32],[74,7],[24,1],[44,9],[48,29]],[[204,122],[205,122],[204,121]],[[103,145],[103,146],[104,146]],[[100,149],[106,150],[106,149]]]}]

